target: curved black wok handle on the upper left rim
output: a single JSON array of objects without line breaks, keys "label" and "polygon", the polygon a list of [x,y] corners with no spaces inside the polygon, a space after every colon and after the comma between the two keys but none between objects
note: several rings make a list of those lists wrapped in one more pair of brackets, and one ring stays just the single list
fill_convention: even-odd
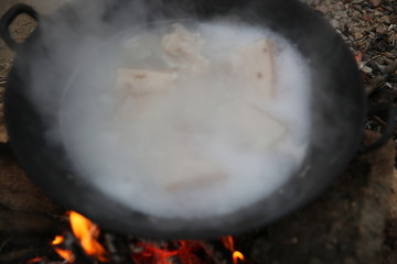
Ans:
[{"label": "curved black wok handle on the upper left rim", "polygon": [[17,19],[18,15],[23,13],[30,15],[34,20],[39,20],[37,12],[32,7],[23,3],[15,4],[12,8],[10,8],[0,20],[0,36],[1,38],[3,38],[6,44],[14,52],[19,50],[22,46],[22,44],[18,43],[11,36],[10,25]]}]

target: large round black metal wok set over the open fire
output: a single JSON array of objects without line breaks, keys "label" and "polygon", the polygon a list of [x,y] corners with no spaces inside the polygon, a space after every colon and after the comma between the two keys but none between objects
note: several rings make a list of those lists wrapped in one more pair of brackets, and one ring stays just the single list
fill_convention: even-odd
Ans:
[{"label": "large round black metal wok set over the open fire", "polygon": [[[49,16],[37,15],[30,7],[19,4],[1,20],[1,35],[17,52],[4,96],[6,122],[12,148],[36,184],[66,209],[83,213],[104,229],[122,233],[170,239],[215,238],[264,226],[301,207],[319,195],[357,152],[367,113],[358,70],[341,37],[314,11],[293,0],[174,0],[168,4],[148,1],[149,16],[126,19],[105,33],[93,30],[90,34],[97,40],[106,40],[131,24],[164,19],[206,20],[225,13],[249,24],[270,28],[294,43],[309,61],[314,87],[311,109],[316,114],[311,120],[310,147],[300,169],[275,194],[249,208],[200,220],[160,219],[125,208],[74,172],[65,147],[46,136],[50,123],[58,118],[58,112],[40,111],[34,98],[29,96],[31,84],[28,76],[40,69],[45,73],[42,94],[49,98],[46,103],[52,109],[60,108],[62,88],[66,87],[75,68],[64,64],[61,56],[49,53],[50,48],[64,47],[56,37],[47,37],[43,33],[42,24],[51,21],[56,30],[57,21],[68,21],[72,24],[68,34],[75,44],[66,50],[71,56],[76,56],[84,38],[79,24],[90,22],[84,13],[92,4],[88,2],[93,1],[68,3]],[[116,21],[138,1],[105,2],[108,8],[100,15]],[[10,23],[20,13],[39,20],[37,29],[24,43],[15,43],[9,34]],[[43,63],[43,57],[47,58],[44,61],[47,63]],[[46,86],[47,80],[55,80],[57,88]],[[330,127],[333,127],[332,133],[329,132]]]}]

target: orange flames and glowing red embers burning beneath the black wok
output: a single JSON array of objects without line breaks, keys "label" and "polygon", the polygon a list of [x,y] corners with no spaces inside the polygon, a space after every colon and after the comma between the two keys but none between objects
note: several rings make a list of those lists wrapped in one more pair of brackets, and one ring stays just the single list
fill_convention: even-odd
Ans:
[{"label": "orange flames and glowing red embers burning beneath the black wok", "polygon": [[[76,240],[78,240],[82,249],[89,256],[95,257],[99,262],[109,262],[108,253],[104,246],[98,242],[99,228],[83,217],[82,215],[69,211],[68,213],[72,232]],[[65,250],[65,245],[69,244],[72,235],[57,235],[52,241],[56,253],[65,260],[65,263],[75,263],[75,255],[72,251]],[[72,239],[73,241],[73,239]],[[224,246],[230,251],[233,264],[246,263],[245,256],[240,251],[236,250],[235,240],[232,235],[221,238]],[[175,240],[167,243],[154,241],[138,241],[135,244],[135,250],[130,257],[133,263],[155,263],[155,264],[196,264],[204,263],[196,252],[203,250],[201,241],[194,240]]]}]

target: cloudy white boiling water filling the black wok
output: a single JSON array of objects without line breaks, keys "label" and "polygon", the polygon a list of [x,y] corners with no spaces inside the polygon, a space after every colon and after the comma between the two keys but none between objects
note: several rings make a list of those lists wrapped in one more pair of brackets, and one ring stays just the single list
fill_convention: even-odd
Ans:
[{"label": "cloudy white boiling water filling the black wok", "polygon": [[[162,46],[172,29],[125,37],[122,58],[106,62],[112,72],[96,65],[78,92],[72,84],[62,116],[67,152],[90,184],[153,217],[207,218],[249,207],[277,191],[304,157],[308,65],[272,32],[221,22],[186,26],[197,56],[175,59]],[[239,76],[249,61],[240,65],[238,54],[264,40],[273,56],[270,94]],[[154,70],[154,82],[170,85],[150,95],[115,88],[118,67]]]}]

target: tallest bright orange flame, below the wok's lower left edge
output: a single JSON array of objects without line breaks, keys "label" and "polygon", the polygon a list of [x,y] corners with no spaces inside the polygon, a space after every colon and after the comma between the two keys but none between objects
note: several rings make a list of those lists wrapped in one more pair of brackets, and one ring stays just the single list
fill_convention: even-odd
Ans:
[{"label": "tallest bright orange flame, below the wok's lower left edge", "polygon": [[98,227],[75,211],[69,212],[69,219],[72,231],[87,255],[96,256],[101,262],[108,262],[107,252],[97,241]]}]

